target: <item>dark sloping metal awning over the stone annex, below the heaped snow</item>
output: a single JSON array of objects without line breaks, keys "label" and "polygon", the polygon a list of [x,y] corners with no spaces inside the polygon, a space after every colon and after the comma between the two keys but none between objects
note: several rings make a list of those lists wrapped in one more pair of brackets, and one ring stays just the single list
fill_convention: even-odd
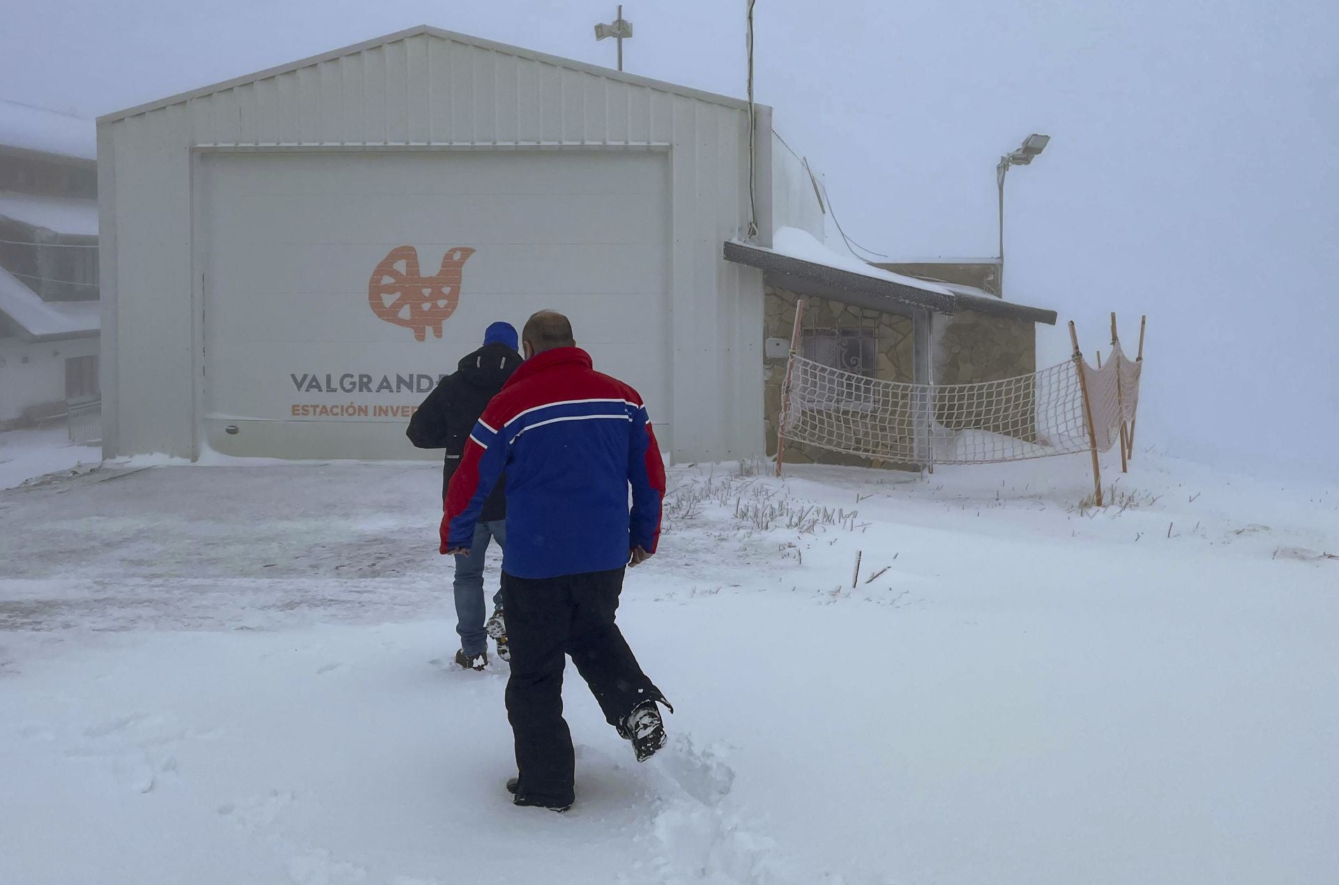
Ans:
[{"label": "dark sloping metal awning over the stone annex, below the heaped snow", "polygon": [[[817,261],[795,258],[766,246],[727,240],[726,261],[744,264],[763,272],[766,281],[779,289],[798,295],[841,301],[854,307],[911,316],[915,311],[929,311],[952,316],[960,311],[975,311],[1012,320],[1028,320],[1055,325],[1055,311],[1014,304],[995,297],[981,297],[951,292],[941,285],[898,277],[870,266],[870,273],[857,273]],[[904,281],[905,280],[905,281]]]}]

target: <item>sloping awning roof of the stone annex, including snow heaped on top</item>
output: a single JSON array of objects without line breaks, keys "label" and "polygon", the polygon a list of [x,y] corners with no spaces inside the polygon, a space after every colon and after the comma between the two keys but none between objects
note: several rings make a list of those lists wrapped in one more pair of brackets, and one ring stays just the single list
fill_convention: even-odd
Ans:
[{"label": "sloping awning roof of the stone annex, including snow heaped on top", "polygon": [[1055,311],[960,295],[928,280],[882,270],[860,258],[838,254],[813,234],[795,228],[779,229],[773,244],[769,249],[731,240],[724,244],[724,258],[763,270],[770,281],[782,288],[874,311],[905,313],[921,309],[945,315],[979,311],[1048,325],[1056,320]]}]

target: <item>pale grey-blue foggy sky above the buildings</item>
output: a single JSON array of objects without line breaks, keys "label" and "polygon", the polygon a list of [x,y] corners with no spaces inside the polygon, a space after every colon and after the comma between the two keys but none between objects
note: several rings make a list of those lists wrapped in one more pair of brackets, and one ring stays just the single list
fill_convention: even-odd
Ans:
[{"label": "pale grey-blue foggy sky above the buildings", "polygon": [[[0,98],[104,114],[420,23],[613,64],[589,0],[5,4]],[[743,0],[625,3],[627,68],[742,96]],[[1133,343],[1139,445],[1334,467],[1339,439],[1339,4],[1326,0],[759,0],[757,98],[893,257],[995,253],[1059,311],[1040,361]],[[1133,349],[1133,344],[1131,344]]]}]

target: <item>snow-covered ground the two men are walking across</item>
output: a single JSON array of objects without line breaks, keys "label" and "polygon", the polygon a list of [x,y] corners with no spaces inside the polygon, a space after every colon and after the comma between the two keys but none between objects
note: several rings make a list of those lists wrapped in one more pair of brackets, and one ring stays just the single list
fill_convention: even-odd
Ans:
[{"label": "snow-covered ground the two men are walking across", "polygon": [[672,744],[569,671],[565,815],[443,663],[434,466],[0,493],[0,881],[1334,882],[1339,490],[1086,467],[672,470],[620,613]]}]

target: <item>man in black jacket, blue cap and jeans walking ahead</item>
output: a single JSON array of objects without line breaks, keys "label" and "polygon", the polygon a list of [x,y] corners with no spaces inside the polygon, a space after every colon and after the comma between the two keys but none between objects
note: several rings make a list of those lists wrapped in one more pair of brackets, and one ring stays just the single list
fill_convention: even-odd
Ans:
[{"label": "man in black jacket, blue cap and jeans walking ahead", "polygon": [[[483,347],[465,356],[455,372],[442,379],[410,419],[408,430],[404,431],[410,442],[419,449],[446,449],[443,498],[474,423],[521,364],[516,345],[517,335],[511,324],[491,324],[483,333]],[[497,640],[498,656],[510,660],[501,589],[493,596],[493,617],[486,625],[483,623],[483,556],[490,538],[499,548],[506,546],[505,478],[483,503],[469,556],[455,557],[455,632],[461,635],[455,663],[463,668],[483,669],[487,665],[489,635]]]}]

